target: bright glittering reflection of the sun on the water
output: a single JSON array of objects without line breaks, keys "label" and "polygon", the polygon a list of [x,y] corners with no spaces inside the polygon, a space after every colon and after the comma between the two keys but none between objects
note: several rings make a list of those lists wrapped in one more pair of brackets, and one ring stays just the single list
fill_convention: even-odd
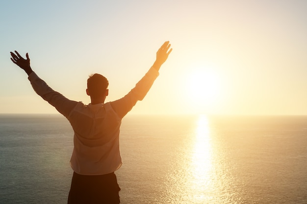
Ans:
[{"label": "bright glittering reflection of the sun on the water", "polygon": [[[213,158],[212,131],[207,116],[189,120],[189,127],[180,141],[176,158],[170,165],[169,189],[165,203],[215,204],[218,200],[218,184]],[[180,144],[179,143],[179,144]]]}]

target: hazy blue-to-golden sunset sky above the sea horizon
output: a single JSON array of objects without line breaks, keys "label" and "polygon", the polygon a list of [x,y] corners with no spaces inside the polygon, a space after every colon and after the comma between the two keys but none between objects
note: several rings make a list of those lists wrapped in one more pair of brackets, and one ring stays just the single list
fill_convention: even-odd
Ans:
[{"label": "hazy blue-to-golden sunset sky above the sea horizon", "polygon": [[0,2],[0,113],[57,113],[10,51],[71,100],[86,80],[123,97],[173,48],[131,114],[307,114],[306,0],[9,0]]}]

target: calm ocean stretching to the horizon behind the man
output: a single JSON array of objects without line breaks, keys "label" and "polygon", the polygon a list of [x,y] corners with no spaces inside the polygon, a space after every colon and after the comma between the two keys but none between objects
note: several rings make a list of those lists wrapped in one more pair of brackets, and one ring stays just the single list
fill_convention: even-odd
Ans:
[{"label": "calm ocean stretching to the horizon behind the man", "polygon": [[[307,116],[127,115],[122,204],[307,204]],[[0,114],[0,204],[66,204],[73,130]]]}]

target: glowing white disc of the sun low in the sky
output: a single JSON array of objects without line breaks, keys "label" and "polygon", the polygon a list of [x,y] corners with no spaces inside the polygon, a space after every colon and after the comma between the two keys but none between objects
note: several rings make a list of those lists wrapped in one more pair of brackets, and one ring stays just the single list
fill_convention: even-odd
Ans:
[{"label": "glowing white disc of the sun low in the sky", "polygon": [[193,69],[186,75],[186,99],[199,108],[210,108],[219,98],[220,85],[220,78],[214,70]]}]

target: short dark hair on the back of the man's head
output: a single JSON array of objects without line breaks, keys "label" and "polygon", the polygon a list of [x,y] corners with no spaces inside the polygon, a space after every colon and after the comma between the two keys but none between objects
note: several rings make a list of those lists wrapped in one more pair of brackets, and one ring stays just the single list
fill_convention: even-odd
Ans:
[{"label": "short dark hair on the back of the man's head", "polygon": [[87,79],[87,90],[91,96],[100,97],[108,88],[108,80],[101,74],[92,74]]}]

